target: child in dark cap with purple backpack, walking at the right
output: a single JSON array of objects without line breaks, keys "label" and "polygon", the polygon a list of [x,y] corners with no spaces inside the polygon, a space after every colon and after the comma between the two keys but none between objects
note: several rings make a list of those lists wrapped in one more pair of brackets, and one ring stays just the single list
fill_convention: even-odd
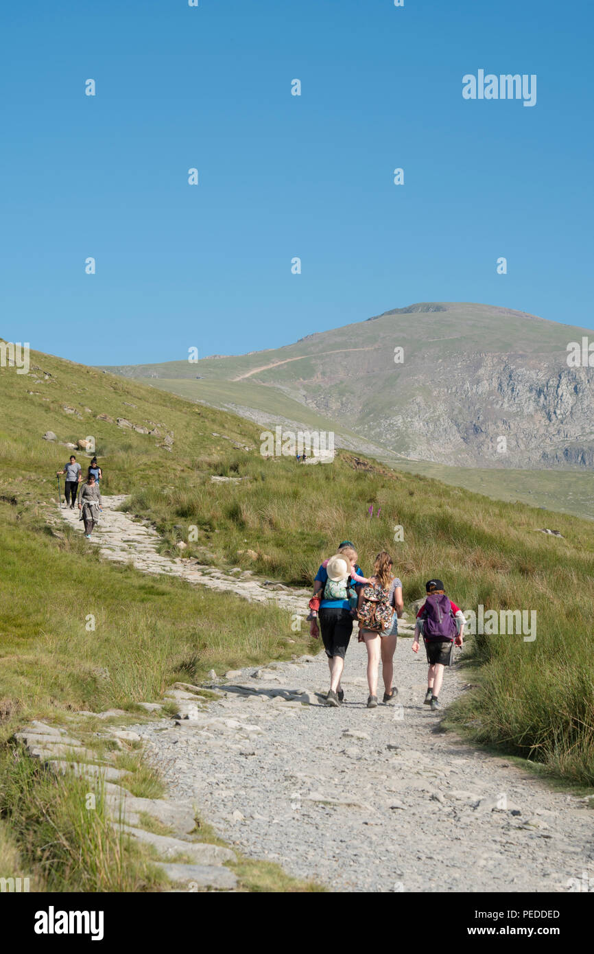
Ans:
[{"label": "child in dark cap with purple backpack, walking at the right", "polygon": [[454,643],[464,642],[464,614],[445,594],[441,580],[425,584],[427,598],[417,613],[413,653],[419,653],[419,635],[425,644],[429,673],[423,704],[432,710],[440,708],[439,695],[443,681],[443,667],[451,666]]}]

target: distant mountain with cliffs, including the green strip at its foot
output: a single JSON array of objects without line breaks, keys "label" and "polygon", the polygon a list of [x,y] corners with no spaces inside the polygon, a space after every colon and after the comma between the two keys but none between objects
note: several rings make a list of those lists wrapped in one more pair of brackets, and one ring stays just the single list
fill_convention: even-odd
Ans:
[{"label": "distant mountain with cliffs, including the green strip at its foot", "polygon": [[[421,302],[253,354],[113,370],[248,419],[334,430],[341,446],[494,499],[592,518],[591,414],[571,423],[563,394],[547,398],[548,417],[539,410],[547,381],[567,371],[566,343],[584,334],[506,308]],[[509,454],[493,450],[500,433]]]}]

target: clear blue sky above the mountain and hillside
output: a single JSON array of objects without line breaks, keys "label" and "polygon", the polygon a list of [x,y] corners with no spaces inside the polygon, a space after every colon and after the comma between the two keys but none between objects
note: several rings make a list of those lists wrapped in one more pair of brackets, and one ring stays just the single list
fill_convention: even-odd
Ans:
[{"label": "clear blue sky above the mountain and hillside", "polygon": [[[3,16],[7,340],[168,361],[414,301],[592,326],[589,2],[32,0]],[[536,106],[462,99],[479,69],[536,73]]]}]

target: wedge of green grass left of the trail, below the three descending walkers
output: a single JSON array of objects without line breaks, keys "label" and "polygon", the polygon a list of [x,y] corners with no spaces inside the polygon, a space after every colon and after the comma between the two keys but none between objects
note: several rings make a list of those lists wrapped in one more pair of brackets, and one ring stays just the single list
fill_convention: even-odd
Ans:
[{"label": "wedge of green grass left of the trail, below the three descending walkers", "polygon": [[8,723],[56,706],[133,711],[175,680],[286,656],[287,638],[297,652],[308,646],[287,612],[83,557],[80,534],[65,529],[56,539],[42,521],[0,503],[0,712],[4,705],[13,714]]}]

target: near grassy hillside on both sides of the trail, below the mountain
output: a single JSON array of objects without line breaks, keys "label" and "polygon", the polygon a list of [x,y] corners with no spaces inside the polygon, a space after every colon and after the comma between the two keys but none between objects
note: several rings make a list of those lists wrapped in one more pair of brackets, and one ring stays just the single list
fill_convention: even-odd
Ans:
[{"label": "near grassy hillside on both sides of the trail, below the mountain", "polygon": [[[471,641],[475,688],[455,717],[483,742],[539,760],[574,783],[594,783],[591,523],[493,503],[348,451],[317,467],[264,459],[260,428],[249,421],[55,358],[32,362],[38,367],[29,377],[0,370],[3,738],[31,715],[133,708],[175,676],[198,678],[213,665],[287,653],[282,612],[102,566],[80,535],[53,536],[44,508],[69,451],[42,440],[51,429],[63,441],[96,436],[106,491],[132,493],[129,507],[154,521],[164,550],[177,552],[174,544],[184,540],[186,555],[303,583],[349,537],[363,570],[380,549],[393,552],[407,602],[439,574],[464,609],[536,611],[533,642],[522,635]],[[156,425],[160,436],[98,421],[98,414]],[[167,433],[172,451],[159,446]],[[213,474],[247,479],[213,484]],[[563,536],[538,532],[543,527]],[[100,623],[91,638],[83,625],[89,612]],[[21,842],[10,845],[17,848]]]}]

